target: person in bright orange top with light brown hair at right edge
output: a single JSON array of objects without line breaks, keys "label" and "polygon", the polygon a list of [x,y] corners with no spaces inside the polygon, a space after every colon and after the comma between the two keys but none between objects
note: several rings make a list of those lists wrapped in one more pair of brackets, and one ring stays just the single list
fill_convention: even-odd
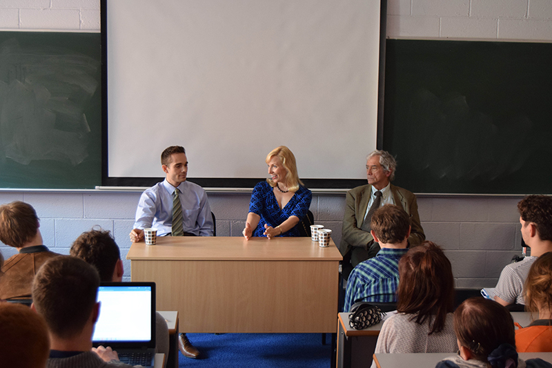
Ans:
[{"label": "person in bright orange top with light brown hair at right edge", "polygon": [[552,351],[552,252],[544,253],[533,264],[525,280],[525,309],[538,313],[531,325],[515,331],[517,351]]}]

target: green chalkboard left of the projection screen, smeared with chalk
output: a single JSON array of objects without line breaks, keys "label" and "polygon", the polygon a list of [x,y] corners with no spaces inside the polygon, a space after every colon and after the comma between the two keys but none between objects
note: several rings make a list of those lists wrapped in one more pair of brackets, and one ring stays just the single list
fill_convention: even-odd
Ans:
[{"label": "green chalkboard left of the projection screen, smeared with chalk", "polygon": [[0,32],[0,188],[99,184],[99,33]]}]

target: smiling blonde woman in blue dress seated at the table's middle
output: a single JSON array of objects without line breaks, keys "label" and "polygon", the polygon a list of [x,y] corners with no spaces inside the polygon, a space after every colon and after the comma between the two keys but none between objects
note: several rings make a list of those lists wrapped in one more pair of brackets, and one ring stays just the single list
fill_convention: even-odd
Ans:
[{"label": "smiling blonde woman in blue dress seated at the table's middle", "polygon": [[289,148],[273,149],[265,161],[270,178],[253,188],[242,233],[247,240],[252,236],[299,236],[296,225],[311,206],[313,193],[299,180],[295,156]]}]

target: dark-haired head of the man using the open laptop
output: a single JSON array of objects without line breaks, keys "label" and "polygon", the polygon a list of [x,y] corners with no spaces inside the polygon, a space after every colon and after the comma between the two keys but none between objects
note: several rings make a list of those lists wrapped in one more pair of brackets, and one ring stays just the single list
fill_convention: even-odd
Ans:
[{"label": "dark-haired head of the man using the open laptop", "polygon": [[96,304],[98,271],[80,258],[59,255],[40,267],[32,282],[32,302],[48,329],[63,339],[77,336]]}]

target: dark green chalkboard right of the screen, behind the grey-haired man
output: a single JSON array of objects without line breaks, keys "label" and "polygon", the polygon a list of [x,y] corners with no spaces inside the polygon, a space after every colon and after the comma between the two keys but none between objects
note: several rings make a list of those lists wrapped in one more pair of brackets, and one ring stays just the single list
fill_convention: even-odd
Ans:
[{"label": "dark green chalkboard right of the screen, behind the grey-haired man", "polygon": [[552,193],[552,43],[386,42],[383,148],[415,193]]}]

